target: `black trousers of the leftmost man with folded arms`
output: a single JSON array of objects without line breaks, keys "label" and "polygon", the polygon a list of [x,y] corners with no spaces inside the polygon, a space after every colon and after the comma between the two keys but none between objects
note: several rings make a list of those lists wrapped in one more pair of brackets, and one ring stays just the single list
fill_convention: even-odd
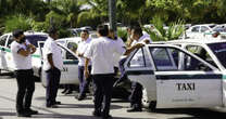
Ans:
[{"label": "black trousers of the leftmost man with folded arms", "polygon": [[35,79],[33,69],[15,70],[17,81],[16,111],[22,113],[30,108],[33,93],[35,91]]}]

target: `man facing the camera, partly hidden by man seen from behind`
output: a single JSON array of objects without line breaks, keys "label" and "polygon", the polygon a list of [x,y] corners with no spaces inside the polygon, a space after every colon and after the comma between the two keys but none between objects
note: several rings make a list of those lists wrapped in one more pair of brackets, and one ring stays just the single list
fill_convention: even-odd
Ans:
[{"label": "man facing the camera, partly hidden by man seen from behind", "polygon": [[[89,38],[88,30],[83,30],[80,32],[81,41],[78,44],[77,55],[78,55],[78,79],[79,79],[79,95],[77,97],[78,101],[81,101],[86,97],[86,92],[88,90],[88,85],[91,81],[91,77],[85,79],[84,77],[84,66],[85,66],[85,57],[84,53],[89,47],[91,39]],[[91,63],[88,66],[89,70],[91,70]]]}]

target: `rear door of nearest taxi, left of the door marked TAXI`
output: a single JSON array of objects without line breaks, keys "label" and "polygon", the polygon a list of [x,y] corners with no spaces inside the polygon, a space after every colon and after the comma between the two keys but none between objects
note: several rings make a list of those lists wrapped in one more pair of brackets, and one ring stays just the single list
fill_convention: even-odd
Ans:
[{"label": "rear door of nearest taxi, left of the door marked TAXI", "polygon": [[133,52],[124,64],[128,79],[143,85],[145,100],[156,100],[156,82],[153,62],[150,60],[148,48]]}]

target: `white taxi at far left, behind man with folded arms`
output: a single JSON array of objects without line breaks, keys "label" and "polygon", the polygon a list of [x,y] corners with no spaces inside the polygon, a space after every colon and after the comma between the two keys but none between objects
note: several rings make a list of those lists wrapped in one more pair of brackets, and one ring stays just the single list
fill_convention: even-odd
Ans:
[{"label": "white taxi at far left, behind man with folded arms", "polygon": [[[34,31],[26,31],[24,32],[26,39],[33,43],[35,47],[38,47],[38,41],[45,41],[48,37],[45,32],[34,32]],[[5,34],[0,37],[0,70],[9,70],[13,71],[13,61],[12,61],[12,52],[10,49],[10,44],[13,41],[12,34]],[[33,68],[35,76],[39,77],[40,75],[40,55],[39,52],[36,51],[32,55],[33,61]]]}]

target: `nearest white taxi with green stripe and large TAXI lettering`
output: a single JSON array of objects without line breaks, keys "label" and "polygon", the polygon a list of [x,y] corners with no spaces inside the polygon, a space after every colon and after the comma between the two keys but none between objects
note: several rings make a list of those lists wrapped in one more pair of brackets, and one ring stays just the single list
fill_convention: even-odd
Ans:
[{"label": "nearest white taxi with green stripe and large TAXI lettering", "polygon": [[183,49],[186,41],[148,44],[124,64],[128,78],[143,87],[143,105],[151,109],[225,107],[226,42],[202,43],[213,58],[209,62]]}]

